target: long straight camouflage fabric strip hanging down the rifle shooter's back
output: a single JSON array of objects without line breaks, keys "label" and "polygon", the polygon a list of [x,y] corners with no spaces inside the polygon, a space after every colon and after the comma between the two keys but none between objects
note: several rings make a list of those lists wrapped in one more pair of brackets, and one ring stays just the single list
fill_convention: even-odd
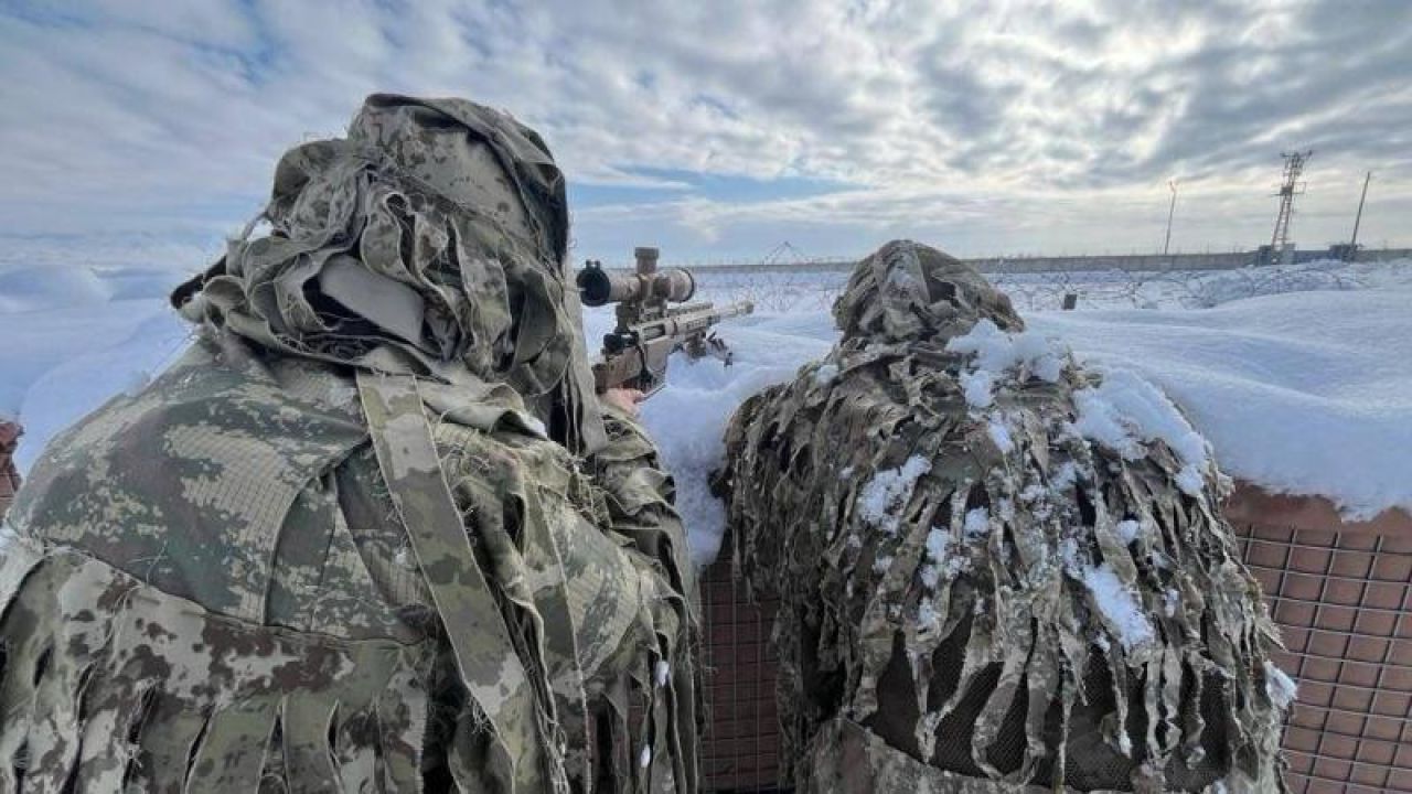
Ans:
[{"label": "long straight camouflage fabric strip hanging down the rifle shooter's back", "polygon": [[[414,379],[357,374],[378,463],[450,640],[456,667],[486,716],[511,791],[568,790],[500,603],[442,475]],[[520,743],[521,737],[534,737]]]}]

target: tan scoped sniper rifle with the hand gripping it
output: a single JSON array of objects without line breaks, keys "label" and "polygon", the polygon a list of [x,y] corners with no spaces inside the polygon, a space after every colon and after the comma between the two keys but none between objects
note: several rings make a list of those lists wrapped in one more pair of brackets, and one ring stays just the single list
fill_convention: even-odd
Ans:
[{"label": "tan scoped sniper rifle with the hand gripping it", "polygon": [[676,350],[692,359],[714,356],[730,366],[730,349],[710,326],[755,311],[754,304],[686,304],[696,292],[690,271],[658,270],[657,249],[635,249],[633,254],[637,270],[603,270],[602,263],[589,260],[579,271],[583,305],[617,304],[617,326],[603,338],[603,357],[593,365],[599,393],[637,389],[652,396],[666,386],[666,359]]}]

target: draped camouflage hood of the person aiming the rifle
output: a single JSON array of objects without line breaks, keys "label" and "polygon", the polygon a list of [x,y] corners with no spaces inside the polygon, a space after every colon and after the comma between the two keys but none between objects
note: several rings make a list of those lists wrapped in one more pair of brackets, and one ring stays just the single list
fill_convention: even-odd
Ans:
[{"label": "draped camouflage hood of the person aiming the rifle", "polygon": [[[270,235],[251,239],[260,220]],[[346,138],[280,160],[256,222],[172,294],[186,318],[277,355],[505,383],[556,441],[603,442],[563,175],[534,130],[462,99],[373,95]]]}]

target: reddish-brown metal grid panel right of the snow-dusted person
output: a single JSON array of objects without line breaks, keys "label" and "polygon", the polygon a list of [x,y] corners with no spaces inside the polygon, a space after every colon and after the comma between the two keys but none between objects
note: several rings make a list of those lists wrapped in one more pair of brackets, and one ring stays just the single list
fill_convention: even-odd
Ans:
[{"label": "reddish-brown metal grid panel right of the snow-dusted person", "polygon": [[1237,527],[1299,682],[1285,730],[1295,794],[1412,791],[1412,527]]}]

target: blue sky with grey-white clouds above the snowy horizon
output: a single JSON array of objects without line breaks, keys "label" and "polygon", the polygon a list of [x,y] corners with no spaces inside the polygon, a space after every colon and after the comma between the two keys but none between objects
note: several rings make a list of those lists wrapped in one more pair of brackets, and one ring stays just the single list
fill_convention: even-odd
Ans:
[{"label": "blue sky with grey-white clouds above the snowy horizon", "polygon": [[575,257],[1412,246],[1412,3],[0,0],[0,264],[199,267],[374,90],[537,127]]}]

